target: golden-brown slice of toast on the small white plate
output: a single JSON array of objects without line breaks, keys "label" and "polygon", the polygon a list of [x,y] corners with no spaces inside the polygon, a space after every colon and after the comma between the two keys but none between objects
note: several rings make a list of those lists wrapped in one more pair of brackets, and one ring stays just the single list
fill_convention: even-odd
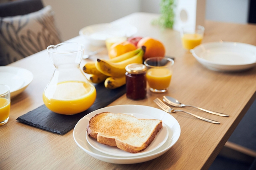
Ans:
[{"label": "golden-brown slice of toast on the small white plate", "polygon": [[86,131],[99,143],[137,153],[150,145],[161,128],[162,120],[103,112],[91,118]]}]

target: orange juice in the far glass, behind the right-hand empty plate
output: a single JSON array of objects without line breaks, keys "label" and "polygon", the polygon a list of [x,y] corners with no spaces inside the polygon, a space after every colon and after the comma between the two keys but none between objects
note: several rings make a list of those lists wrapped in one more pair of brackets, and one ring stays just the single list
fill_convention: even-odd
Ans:
[{"label": "orange juice in the far glass, behind the right-hand empty plate", "polygon": [[182,37],[182,44],[185,49],[190,50],[200,45],[202,39],[203,36],[200,34],[184,34]]}]

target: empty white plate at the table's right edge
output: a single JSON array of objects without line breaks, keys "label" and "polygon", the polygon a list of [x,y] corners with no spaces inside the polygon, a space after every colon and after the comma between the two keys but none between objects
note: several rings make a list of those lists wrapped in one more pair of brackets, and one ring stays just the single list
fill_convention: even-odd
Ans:
[{"label": "empty white plate at the table's right edge", "polygon": [[192,55],[203,66],[222,72],[237,72],[256,66],[256,46],[240,42],[209,42],[196,46]]}]

